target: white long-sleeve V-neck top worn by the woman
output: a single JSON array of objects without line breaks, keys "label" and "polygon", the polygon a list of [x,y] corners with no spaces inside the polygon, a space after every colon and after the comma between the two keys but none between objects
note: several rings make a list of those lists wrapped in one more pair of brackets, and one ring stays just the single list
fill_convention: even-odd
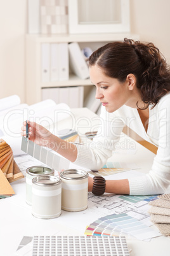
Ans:
[{"label": "white long-sleeve V-neck top worn by the woman", "polygon": [[89,145],[77,145],[75,164],[89,169],[100,169],[112,156],[126,124],[141,138],[158,147],[152,169],[148,174],[129,178],[131,195],[162,194],[170,184],[170,93],[162,97],[157,105],[149,106],[147,132],[136,108],[122,106],[114,113],[101,108],[101,124],[98,134]]}]

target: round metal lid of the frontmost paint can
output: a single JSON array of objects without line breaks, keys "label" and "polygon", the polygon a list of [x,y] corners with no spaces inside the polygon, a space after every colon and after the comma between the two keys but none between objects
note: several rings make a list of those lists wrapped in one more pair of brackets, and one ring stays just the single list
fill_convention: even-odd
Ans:
[{"label": "round metal lid of the frontmost paint can", "polygon": [[56,176],[42,175],[32,179],[32,183],[39,186],[59,185],[62,180]]}]

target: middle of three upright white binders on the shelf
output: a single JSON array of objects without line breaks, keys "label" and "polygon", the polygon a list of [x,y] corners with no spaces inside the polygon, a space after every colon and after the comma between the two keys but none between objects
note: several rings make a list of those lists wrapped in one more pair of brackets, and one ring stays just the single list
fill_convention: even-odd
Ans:
[{"label": "middle of three upright white binders on the shelf", "polygon": [[60,79],[59,74],[59,45],[51,43],[50,45],[50,81],[56,82]]}]

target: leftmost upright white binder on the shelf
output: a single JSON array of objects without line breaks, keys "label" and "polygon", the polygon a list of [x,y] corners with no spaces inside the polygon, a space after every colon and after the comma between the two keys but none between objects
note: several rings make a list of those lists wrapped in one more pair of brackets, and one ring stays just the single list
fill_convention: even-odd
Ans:
[{"label": "leftmost upright white binder on the shelf", "polygon": [[42,83],[50,81],[50,45],[42,43],[41,45],[41,80]]}]

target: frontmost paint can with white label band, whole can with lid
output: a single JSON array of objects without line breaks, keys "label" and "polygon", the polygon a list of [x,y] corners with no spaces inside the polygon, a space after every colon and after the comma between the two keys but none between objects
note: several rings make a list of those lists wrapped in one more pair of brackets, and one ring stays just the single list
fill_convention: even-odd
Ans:
[{"label": "frontmost paint can with white label band, whole can with lid", "polygon": [[61,214],[62,180],[56,176],[37,176],[32,179],[32,215],[37,218],[56,218]]}]

